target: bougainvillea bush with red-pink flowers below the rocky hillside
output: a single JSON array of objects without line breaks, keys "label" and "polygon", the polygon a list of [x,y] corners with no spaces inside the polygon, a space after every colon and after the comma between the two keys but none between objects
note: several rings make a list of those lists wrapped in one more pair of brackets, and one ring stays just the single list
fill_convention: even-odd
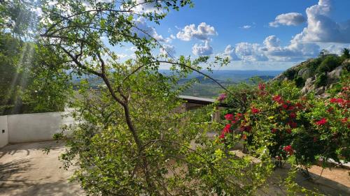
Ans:
[{"label": "bougainvillea bush with red-pink flowers below the rocky hillside", "polygon": [[[307,169],[329,158],[349,161],[348,80],[343,80],[342,89],[327,98],[312,93],[302,96],[300,89],[288,81],[246,88],[246,95],[239,95],[239,99],[228,95],[221,101],[232,108],[225,110],[226,124],[218,140],[228,149],[241,141],[252,155],[267,148],[276,165],[289,159]],[[232,103],[244,107],[239,112]]]}]

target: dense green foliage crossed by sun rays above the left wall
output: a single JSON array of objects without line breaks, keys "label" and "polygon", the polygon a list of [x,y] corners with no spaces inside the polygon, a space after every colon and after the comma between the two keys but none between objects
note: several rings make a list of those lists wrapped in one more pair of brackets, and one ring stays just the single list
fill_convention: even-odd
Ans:
[{"label": "dense green foliage crossed by sun rays above the left wall", "polygon": [[43,55],[10,33],[0,35],[0,114],[63,111],[69,77],[57,69],[55,54]]}]

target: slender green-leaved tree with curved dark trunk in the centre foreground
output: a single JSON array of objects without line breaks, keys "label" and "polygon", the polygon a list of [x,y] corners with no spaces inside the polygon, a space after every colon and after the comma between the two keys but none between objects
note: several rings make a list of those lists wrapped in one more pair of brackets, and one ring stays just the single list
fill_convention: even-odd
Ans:
[{"label": "slender green-leaved tree with curved dark trunk in the centre foreground", "polygon": [[[67,70],[104,82],[91,91],[88,80],[82,80],[80,99],[72,105],[78,110],[73,116],[82,121],[62,154],[66,167],[78,162],[75,179],[87,193],[251,195],[272,171],[267,151],[258,155],[262,164],[252,165],[207,137],[221,125],[199,123],[199,114],[174,113],[186,87],[176,85],[179,78],[201,73],[201,64],[211,62],[208,56],[190,61],[153,55],[162,48],[160,40],[139,22],[159,24],[171,9],[188,5],[193,5],[190,0],[43,2],[38,43],[64,55]],[[136,59],[118,61],[118,50],[109,45],[133,45]],[[164,64],[174,75],[160,73]]]}]

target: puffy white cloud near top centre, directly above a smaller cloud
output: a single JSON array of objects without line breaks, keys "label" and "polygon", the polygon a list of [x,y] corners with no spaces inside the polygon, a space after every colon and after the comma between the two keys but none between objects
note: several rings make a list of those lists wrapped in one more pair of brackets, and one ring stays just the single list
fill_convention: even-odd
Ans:
[{"label": "puffy white cloud near top centre, directly above a smaller cloud", "polygon": [[195,24],[187,25],[176,34],[176,37],[184,41],[189,41],[193,38],[197,38],[199,40],[209,40],[209,36],[215,36],[217,34],[218,33],[215,31],[214,27],[202,22],[197,28],[195,27]]}]

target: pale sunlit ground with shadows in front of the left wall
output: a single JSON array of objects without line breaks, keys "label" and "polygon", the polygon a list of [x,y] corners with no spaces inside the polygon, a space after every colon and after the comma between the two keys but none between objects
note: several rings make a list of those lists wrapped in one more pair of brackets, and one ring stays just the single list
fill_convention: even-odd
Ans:
[{"label": "pale sunlit ground with shadows in front of the left wall", "polygon": [[[43,149],[51,147],[46,155]],[[69,183],[58,156],[64,144],[33,142],[8,145],[0,149],[0,195],[83,195],[77,183]]]}]

